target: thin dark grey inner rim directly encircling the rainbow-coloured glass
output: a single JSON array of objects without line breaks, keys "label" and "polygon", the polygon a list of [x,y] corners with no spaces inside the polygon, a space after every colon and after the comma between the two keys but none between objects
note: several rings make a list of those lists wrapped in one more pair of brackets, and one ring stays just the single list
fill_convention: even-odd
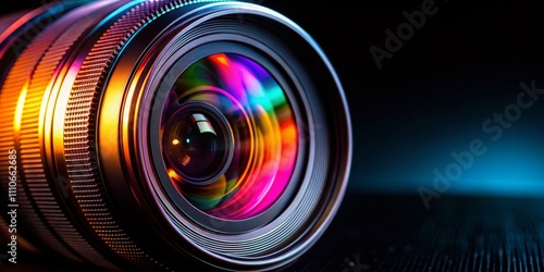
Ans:
[{"label": "thin dark grey inner rim directly encircling the rainbow-coloured glass", "polygon": [[[296,122],[305,122],[304,120],[306,119],[306,115],[302,114],[302,111],[298,108],[298,104],[301,103],[296,102],[299,101],[299,98],[297,98],[294,91],[292,91],[293,83],[289,83],[286,75],[284,75],[279,69],[280,66],[287,66],[280,63],[274,63],[273,59],[271,58],[271,55],[273,55],[272,52],[260,52],[256,48],[251,48],[250,46],[232,41],[218,41],[210,36],[207,37],[207,39],[211,40],[201,42],[199,47],[184,53],[171,67],[164,69],[165,74],[156,92],[157,98],[153,101],[153,103],[156,104],[153,106],[153,108],[162,109],[164,107],[164,101],[168,97],[168,94],[171,91],[172,86],[174,86],[175,81],[181,75],[183,75],[186,69],[188,69],[191,64],[212,54],[233,53],[248,58],[264,67],[274,77],[274,79],[276,79],[277,84],[284,90],[284,95],[289,101],[289,106],[292,107],[292,111],[294,113],[293,115]],[[265,225],[271,220],[281,214],[288,206],[289,200],[293,199],[295,191],[300,186],[300,175],[304,172],[304,165],[307,163],[308,147],[306,145],[298,145],[296,163],[293,170],[293,174],[289,178],[290,181],[284,189],[284,193],[271,207],[269,207],[265,211],[262,211],[259,214],[248,219],[230,220],[218,218],[196,208],[190,203],[190,201],[183,197],[177,188],[172,184],[172,181],[168,175],[168,172],[165,171],[166,168],[164,166],[164,160],[158,152],[159,149],[157,145],[158,139],[160,139],[160,124],[162,121],[162,112],[163,111],[156,110],[150,114],[151,126],[148,133],[151,149],[151,159],[157,171],[160,185],[165,190],[172,203],[181,211],[181,213],[187,214],[195,223],[202,225],[211,231],[221,233],[245,233]],[[304,143],[305,135],[299,134],[298,137],[298,141]]]}]

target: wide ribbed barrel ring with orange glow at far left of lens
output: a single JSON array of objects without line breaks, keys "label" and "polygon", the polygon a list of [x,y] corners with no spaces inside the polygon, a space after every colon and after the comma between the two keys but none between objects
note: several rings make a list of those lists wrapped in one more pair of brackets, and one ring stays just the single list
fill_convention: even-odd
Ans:
[{"label": "wide ribbed barrel ring with orange glow at far left of lens", "polygon": [[[89,9],[101,15],[110,12],[100,11],[99,8],[99,4],[89,5]],[[63,24],[63,20],[78,20],[81,24],[69,28],[67,26],[74,25]],[[0,98],[0,103],[8,108],[4,108],[2,113],[3,126],[0,129],[1,135],[9,135],[11,131],[12,138],[8,140],[8,137],[2,137],[0,146],[2,150],[18,150],[18,160],[23,165],[20,176],[23,182],[17,191],[18,202],[27,217],[26,220],[35,226],[35,235],[72,260],[92,258],[100,265],[114,269],[115,265],[91,247],[65,217],[40,156],[40,106],[50,79],[70,47],[86,27],[96,21],[91,17],[82,20],[82,14],[77,13],[63,20],[53,23],[40,34],[21,53],[9,73]],[[2,166],[2,171],[7,169]]]}]

